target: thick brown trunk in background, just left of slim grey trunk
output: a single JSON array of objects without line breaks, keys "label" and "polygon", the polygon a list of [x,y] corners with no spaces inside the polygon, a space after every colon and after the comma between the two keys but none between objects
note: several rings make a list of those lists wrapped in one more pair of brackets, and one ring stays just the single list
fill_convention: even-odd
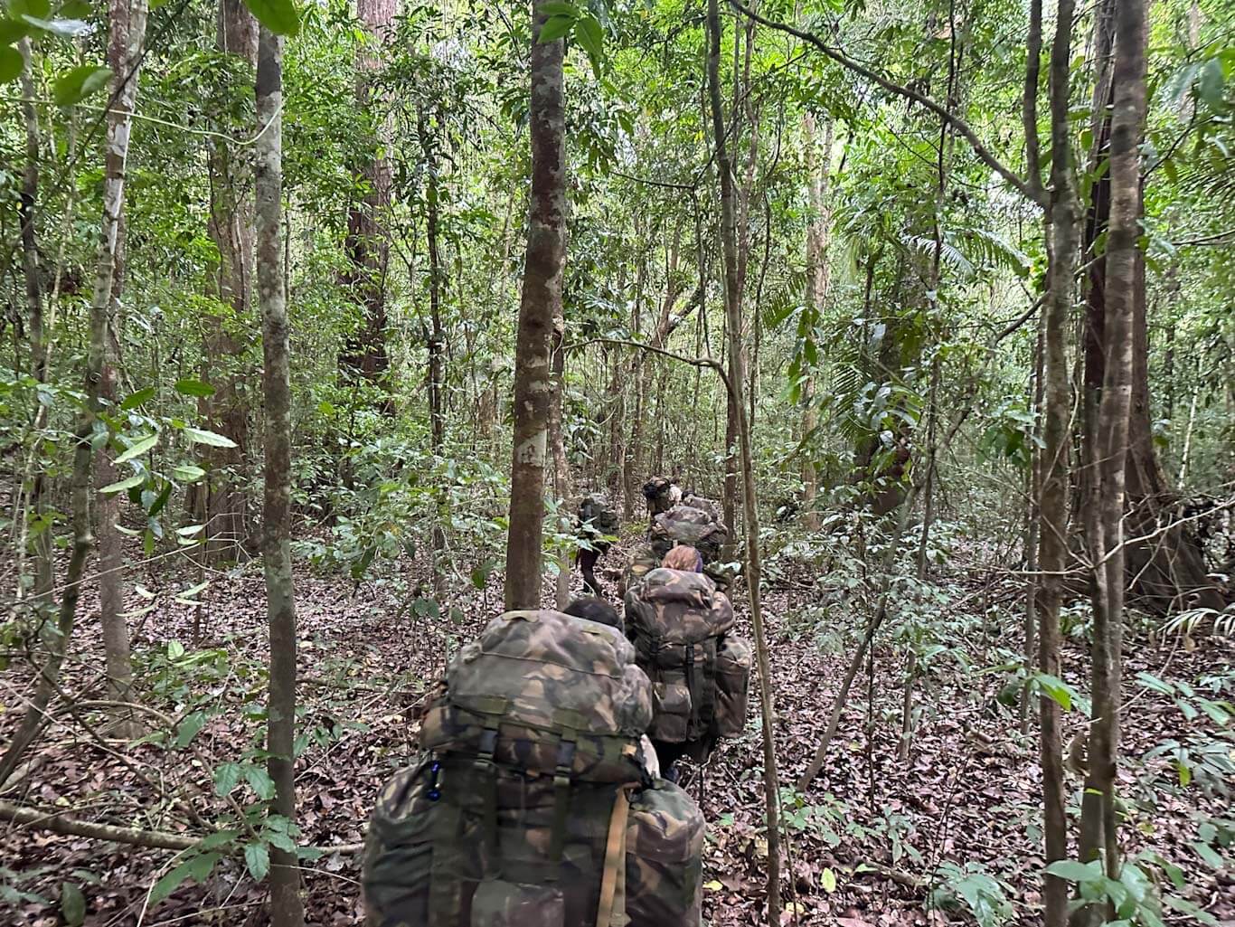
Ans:
[{"label": "thick brown trunk in background, just left of slim grey trunk", "polygon": [[[257,20],[243,0],[219,0],[217,44],[251,67],[257,64]],[[230,125],[220,126],[226,135]],[[247,129],[247,127],[246,127]],[[248,321],[253,290],[253,184],[248,154],[233,150],[226,138],[209,141],[210,218],[206,231],[219,248],[215,295],[231,307],[230,315],[206,319],[203,339],[201,378],[215,387],[203,398],[199,414],[235,447],[203,447],[210,482],[195,493],[204,494],[196,517],[206,523],[206,556],[240,559],[249,538],[248,496],[248,408],[243,384],[247,378],[246,339],[238,332]]]}]

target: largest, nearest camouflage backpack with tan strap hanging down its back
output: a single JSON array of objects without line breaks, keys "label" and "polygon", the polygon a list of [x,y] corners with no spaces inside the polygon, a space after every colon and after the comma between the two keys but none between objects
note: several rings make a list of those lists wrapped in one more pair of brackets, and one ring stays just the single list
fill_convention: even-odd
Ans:
[{"label": "largest, nearest camouflage backpack with tan strap hanging down its back", "polygon": [[509,612],[451,661],[369,822],[369,927],[698,927],[703,817],[642,768],[651,717],[606,625]]}]

